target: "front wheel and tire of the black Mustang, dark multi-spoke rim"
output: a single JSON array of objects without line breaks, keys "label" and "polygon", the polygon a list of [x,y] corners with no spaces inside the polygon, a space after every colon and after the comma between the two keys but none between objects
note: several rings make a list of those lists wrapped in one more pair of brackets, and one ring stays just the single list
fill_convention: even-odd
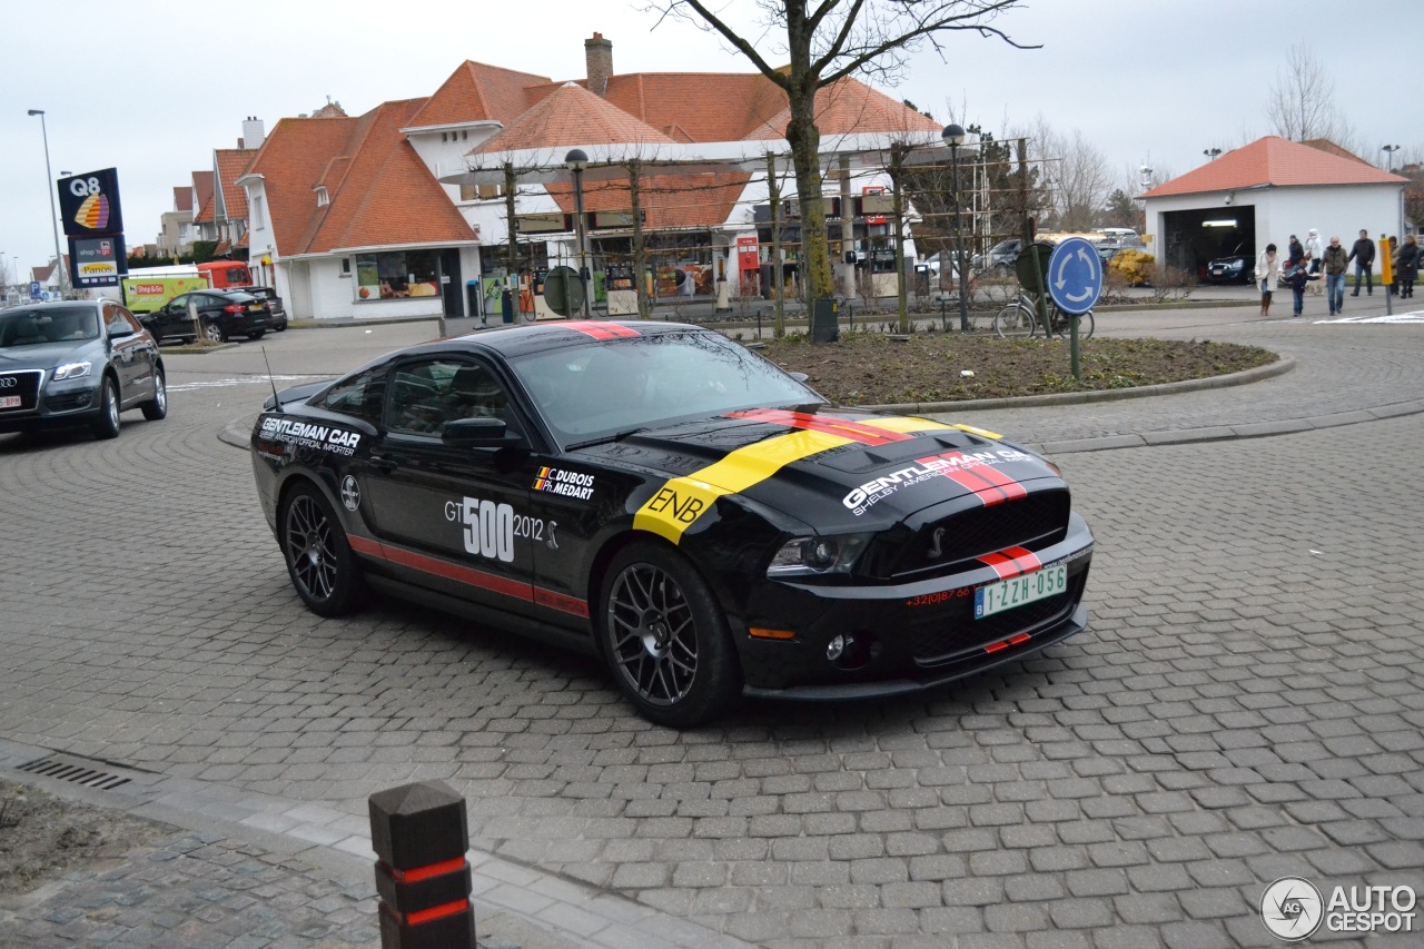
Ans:
[{"label": "front wheel and tire of the black Mustang, dark multi-spoke rim", "polygon": [[600,603],[604,658],[644,718],[695,727],[740,695],[742,668],[722,610],[678,551],[629,544],[608,566]]}]

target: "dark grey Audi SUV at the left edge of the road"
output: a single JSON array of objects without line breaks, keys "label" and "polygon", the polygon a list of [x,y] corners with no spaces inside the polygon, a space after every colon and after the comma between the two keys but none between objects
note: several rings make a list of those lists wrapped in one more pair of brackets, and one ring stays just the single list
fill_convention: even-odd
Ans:
[{"label": "dark grey Audi SUV at the left edge of the road", "polygon": [[118,413],[168,415],[158,343],[112,301],[0,309],[0,432],[87,425],[118,435]]}]

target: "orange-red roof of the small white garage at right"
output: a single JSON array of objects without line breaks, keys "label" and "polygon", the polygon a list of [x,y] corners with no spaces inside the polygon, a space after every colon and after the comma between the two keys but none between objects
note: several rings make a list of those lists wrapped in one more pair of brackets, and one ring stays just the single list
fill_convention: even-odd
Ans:
[{"label": "orange-red roof of the small white garage at right", "polygon": [[1357,158],[1343,158],[1299,141],[1266,135],[1185,175],[1159,184],[1142,197],[1165,198],[1263,185],[1354,184],[1405,184],[1405,180]]}]

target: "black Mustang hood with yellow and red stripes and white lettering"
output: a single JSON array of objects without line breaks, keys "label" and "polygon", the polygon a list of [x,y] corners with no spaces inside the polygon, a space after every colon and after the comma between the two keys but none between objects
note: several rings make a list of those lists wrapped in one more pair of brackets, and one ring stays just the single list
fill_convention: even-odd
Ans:
[{"label": "black Mustang hood with yellow and red stripes and white lettering", "polygon": [[826,533],[879,530],[946,502],[994,504],[1062,487],[1048,462],[991,432],[826,408],[684,422],[577,455],[661,476],[658,490],[672,494],[745,497]]}]

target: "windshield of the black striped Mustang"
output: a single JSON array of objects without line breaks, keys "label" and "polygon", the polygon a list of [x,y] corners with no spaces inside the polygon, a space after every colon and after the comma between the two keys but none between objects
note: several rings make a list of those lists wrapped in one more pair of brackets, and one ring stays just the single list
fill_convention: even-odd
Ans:
[{"label": "windshield of the black striped Mustang", "polygon": [[635,336],[533,353],[510,365],[565,445],[739,409],[824,402],[772,362],[712,332]]}]

